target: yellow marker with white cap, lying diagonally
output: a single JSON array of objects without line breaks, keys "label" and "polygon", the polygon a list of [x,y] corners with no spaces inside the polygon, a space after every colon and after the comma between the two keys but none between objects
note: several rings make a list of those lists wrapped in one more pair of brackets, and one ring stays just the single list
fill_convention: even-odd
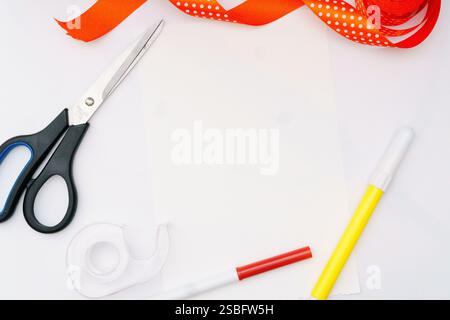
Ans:
[{"label": "yellow marker with white cap, lying diagonally", "polygon": [[386,192],[392,178],[403,160],[414,139],[414,132],[410,128],[401,129],[386,150],[378,167],[373,174],[367,191],[353,215],[347,229],[328,260],[322,275],[314,287],[311,297],[318,300],[328,298],[333,286],[345,266],[361,233],[375,210],[378,202]]}]

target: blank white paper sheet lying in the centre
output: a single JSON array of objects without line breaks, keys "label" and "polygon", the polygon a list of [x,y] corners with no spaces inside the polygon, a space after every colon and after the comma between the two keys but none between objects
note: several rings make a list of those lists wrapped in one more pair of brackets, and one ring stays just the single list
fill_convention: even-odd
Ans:
[{"label": "blank white paper sheet lying in the centre", "polygon": [[[349,218],[325,32],[305,10],[261,28],[168,18],[140,68],[154,211],[172,224],[166,289],[310,245],[312,260],[198,298],[309,296]],[[275,130],[278,170],[207,164],[207,141],[177,164],[176,139],[200,126]],[[335,293],[358,291],[349,263]]]}]

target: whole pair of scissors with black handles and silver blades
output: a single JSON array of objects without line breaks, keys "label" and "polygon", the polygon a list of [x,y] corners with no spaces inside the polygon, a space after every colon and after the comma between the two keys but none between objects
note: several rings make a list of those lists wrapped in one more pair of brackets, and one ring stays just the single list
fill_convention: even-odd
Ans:
[{"label": "whole pair of scissors with black handles and silver blades", "polygon": [[[0,222],[8,220],[12,216],[25,191],[23,213],[31,228],[48,234],[59,232],[70,224],[78,203],[72,175],[72,162],[89,127],[88,121],[144,56],[161,33],[163,25],[164,21],[161,20],[146,30],[143,36],[123,52],[100,76],[82,96],[79,103],[70,109],[64,109],[44,130],[32,135],[14,137],[0,146],[0,164],[16,147],[24,146],[31,152],[30,159],[19,174],[0,211]],[[61,137],[62,139],[60,139]],[[61,142],[58,144],[60,140]],[[34,179],[33,176],[37,169],[55,146],[57,147],[54,153]],[[64,179],[67,185],[69,204],[63,219],[57,225],[47,226],[37,219],[34,203],[41,188],[54,176]]]}]

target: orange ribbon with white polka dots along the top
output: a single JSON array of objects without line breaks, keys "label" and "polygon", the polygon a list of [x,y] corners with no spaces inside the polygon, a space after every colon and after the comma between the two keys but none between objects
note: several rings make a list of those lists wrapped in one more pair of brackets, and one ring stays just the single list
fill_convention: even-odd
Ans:
[{"label": "orange ribbon with white polka dots along the top", "polygon": [[[247,0],[229,10],[216,0],[169,1],[194,17],[253,26],[273,22],[305,5],[351,41],[397,48],[423,42],[436,25],[441,8],[441,0],[354,0],[354,6],[343,0]],[[145,2],[98,0],[80,17],[57,22],[73,38],[92,41],[114,29]]]}]

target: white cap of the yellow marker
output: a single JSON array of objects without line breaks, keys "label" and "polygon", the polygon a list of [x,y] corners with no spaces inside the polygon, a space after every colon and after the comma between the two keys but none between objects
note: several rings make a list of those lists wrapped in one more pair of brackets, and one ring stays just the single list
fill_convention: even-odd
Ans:
[{"label": "white cap of the yellow marker", "polygon": [[397,132],[369,181],[371,185],[387,190],[413,139],[411,128],[402,128]]}]

